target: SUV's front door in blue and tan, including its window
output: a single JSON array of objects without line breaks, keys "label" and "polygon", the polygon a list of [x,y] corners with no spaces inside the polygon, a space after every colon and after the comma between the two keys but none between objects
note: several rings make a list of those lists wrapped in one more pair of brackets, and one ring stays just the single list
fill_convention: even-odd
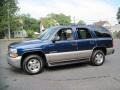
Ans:
[{"label": "SUV's front door in blue and tan, including its window", "polygon": [[56,33],[55,37],[59,40],[50,45],[48,62],[70,61],[77,58],[77,42],[73,35],[72,28],[63,28]]}]

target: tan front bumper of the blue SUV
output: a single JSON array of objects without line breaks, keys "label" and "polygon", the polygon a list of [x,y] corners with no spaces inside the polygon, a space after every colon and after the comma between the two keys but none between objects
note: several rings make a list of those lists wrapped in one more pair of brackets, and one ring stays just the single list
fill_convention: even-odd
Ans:
[{"label": "tan front bumper of the blue SUV", "polygon": [[22,58],[21,56],[18,56],[16,58],[7,56],[7,61],[8,61],[8,64],[10,64],[13,67],[21,68],[21,58]]}]

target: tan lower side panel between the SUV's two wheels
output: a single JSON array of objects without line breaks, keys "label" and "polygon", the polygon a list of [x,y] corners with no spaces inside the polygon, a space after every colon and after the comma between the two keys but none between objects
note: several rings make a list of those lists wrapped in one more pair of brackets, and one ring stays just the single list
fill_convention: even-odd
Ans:
[{"label": "tan lower side panel between the SUV's two wheels", "polygon": [[84,51],[72,51],[72,52],[60,52],[45,54],[47,62],[61,62],[90,58],[93,50]]}]

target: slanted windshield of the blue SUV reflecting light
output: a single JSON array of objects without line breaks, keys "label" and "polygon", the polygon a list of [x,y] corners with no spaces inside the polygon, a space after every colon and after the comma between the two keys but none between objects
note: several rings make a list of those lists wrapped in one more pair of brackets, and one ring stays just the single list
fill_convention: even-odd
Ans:
[{"label": "slanted windshield of the blue SUV reflecting light", "polygon": [[53,29],[53,28],[46,29],[43,33],[40,34],[38,39],[49,40],[51,38],[51,36],[53,35],[54,31],[55,31],[55,29]]}]

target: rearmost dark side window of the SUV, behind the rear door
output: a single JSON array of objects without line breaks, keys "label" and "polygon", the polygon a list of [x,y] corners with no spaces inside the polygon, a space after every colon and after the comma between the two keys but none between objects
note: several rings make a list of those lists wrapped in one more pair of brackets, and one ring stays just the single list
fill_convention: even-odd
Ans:
[{"label": "rearmost dark side window of the SUV, behind the rear door", "polygon": [[105,29],[97,29],[94,32],[98,38],[110,38],[111,37],[110,32]]}]

